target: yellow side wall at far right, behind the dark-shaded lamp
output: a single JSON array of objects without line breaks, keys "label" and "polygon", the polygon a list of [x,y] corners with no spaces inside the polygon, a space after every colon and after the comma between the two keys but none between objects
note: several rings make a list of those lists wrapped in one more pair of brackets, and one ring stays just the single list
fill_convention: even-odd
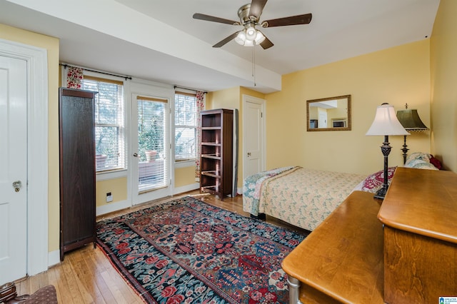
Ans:
[{"label": "yellow side wall at far right, behind the dark-shaded lamp", "polygon": [[457,1],[441,0],[431,36],[432,153],[457,172]]}]

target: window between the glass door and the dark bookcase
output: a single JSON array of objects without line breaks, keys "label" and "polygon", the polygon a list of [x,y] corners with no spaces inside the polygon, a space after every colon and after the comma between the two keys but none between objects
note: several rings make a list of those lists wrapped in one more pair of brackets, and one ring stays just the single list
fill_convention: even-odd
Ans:
[{"label": "window between the glass door and the dark bookcase", "polygon": [[196,158],[197,108],[196,94],[175,94],[175,160],[189,161]]}]

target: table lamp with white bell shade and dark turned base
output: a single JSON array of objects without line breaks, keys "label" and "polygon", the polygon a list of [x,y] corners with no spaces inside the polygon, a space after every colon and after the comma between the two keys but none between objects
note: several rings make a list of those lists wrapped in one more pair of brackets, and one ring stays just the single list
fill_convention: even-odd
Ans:
[{"label": "table lamp with white bell shade and dark turned base", "polygon": [[408,131],[403,128],[395,114],[395,109],[388,103],[383,103],[376,108],[376,115],[371,127],[366,132],[366,136],[384,136],[381,151],[384,156],[384,181],[381,189],[375,194],[375,198],[384,199],[388,189],[388,155],[391,153],[391,146],[388,142],[388,136],[409,135]]}]

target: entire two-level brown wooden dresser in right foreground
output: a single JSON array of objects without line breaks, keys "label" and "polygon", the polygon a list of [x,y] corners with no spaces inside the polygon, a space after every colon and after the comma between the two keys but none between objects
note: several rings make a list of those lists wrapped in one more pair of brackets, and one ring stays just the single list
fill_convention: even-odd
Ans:
[{"label": "entire two-level brown wooden dresser in right foreground", "polygon": [[456,296],[457,175],[397,168],[384,201],[354,191],[283,260],[283,270],[290,303]]}]

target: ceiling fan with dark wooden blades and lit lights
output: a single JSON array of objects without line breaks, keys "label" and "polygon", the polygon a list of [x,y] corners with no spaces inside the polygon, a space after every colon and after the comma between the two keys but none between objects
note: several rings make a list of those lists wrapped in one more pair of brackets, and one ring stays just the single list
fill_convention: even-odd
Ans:
[{"label": "ceiling fan with dark wooden blades and lit lights", "polygon": [[263,49],[268,49],[271,48],[271,46],[273,46],[273,42],[266,38],[266,36],[263,35],[261,31],[256,29],[256,26],[267,28],[273,26],[309,24],[311,22],[312,14],[289,16],[259,22],[266,1],[267,0],[252,0],[251,4],[245,4],[241,6],[238,9],[238,16],[240,18],[240,21],[232,21],[229,19],[223,19],[199,13],[194,14],[193,17],[194,19],[219,22],[221,24],[243,26],[243,29],[241,31],[236,31],[235,33],[228,36],[226,39],[222,39],[217,44],[214,44],[214,48],[220,48],[232,39],[235,39],[235,41],[238,44],[241,44],[243,46],[254,46],[260,44]]}]

